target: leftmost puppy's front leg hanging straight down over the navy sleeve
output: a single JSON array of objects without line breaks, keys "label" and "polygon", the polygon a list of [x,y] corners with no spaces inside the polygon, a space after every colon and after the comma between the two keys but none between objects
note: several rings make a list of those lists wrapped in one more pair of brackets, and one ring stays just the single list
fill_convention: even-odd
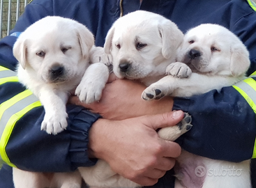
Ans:
[{"label": "leftmost puppy's front leg hanging straight down over the navy sleeve", "polygon": [[45,108],[45,118],[41,125],[41,130],[45,130],[48,134],[58,134],[68,126],[66,118],[66,102],[68,101],[68,93],[57,91],[52,88],[42,88],[39,94],[40,102]]}]

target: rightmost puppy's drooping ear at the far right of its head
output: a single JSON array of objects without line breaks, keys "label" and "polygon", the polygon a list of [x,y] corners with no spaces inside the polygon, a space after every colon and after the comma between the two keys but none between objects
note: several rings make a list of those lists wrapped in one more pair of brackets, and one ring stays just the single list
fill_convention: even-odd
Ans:
[{"label": "rightmost puppy's drooping ear at the far right of its head", "polygon": [[[240,42],[239,42],[240,43]],[[243,44],[231,48],[230,70],[233,77],[246,73],[250,66],[249,52]]]}]

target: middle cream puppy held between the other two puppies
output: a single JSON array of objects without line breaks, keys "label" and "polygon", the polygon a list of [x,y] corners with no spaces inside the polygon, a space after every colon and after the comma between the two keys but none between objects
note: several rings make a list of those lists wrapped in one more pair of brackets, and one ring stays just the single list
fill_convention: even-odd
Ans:
[{"label": "middle cream puppy held between the other two puppies", "polygon": [[[176,60],[176,50],[183,33],[169,19],[155,13],[138,10],[114,22],[107,33],[104,49],[112,55],[114,74],[123,79],[137,79],[149,86],[165,76],[167,65]],[[94,84],[93,93],[102,86]],[[89,90],[82,88],[80,100],[93,101]],[[86,97],[86,99],[84,99]],[[190,116],[181,125],[172,127],[173,139],[190,130]],[[79,168],[82,178],[93,187],[141,187],[116,174],[107,162],[98,160],[95,166]]]}]

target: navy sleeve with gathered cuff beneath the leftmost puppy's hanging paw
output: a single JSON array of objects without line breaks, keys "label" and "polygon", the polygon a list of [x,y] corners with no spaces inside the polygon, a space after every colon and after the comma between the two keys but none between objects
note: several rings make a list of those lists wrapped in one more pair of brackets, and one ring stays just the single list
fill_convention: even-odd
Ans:
[{"label": "navy sleeve with gathered cuff beneath the leftmost puppy's hanging paw", "polygon": [[43,116],[43,107],[38,107],[15,124],[5,148],[11,164],[29,171],[72,171],[95,164],[87,152],[88,132],[98,116],[68,107],[67,130],[57,135],[40,131]]}]

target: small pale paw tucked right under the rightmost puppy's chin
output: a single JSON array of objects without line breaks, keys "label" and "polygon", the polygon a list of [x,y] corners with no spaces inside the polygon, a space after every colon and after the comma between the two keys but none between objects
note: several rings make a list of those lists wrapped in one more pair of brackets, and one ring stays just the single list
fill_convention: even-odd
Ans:
[{"label": "small pale paw tucked right under the rightmost puppy's chin", "polygon": [[185,63],[171,63],[166,68],[166,75],[172,75],[173,77],[188,78],[191,74],[191,69]]}]

